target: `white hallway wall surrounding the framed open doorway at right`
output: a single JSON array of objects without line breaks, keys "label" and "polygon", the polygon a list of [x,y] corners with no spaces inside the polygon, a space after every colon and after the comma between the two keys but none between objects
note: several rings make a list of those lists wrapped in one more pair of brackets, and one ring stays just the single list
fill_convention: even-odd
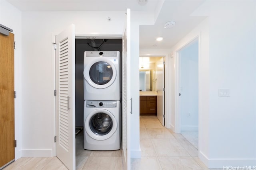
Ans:
[{"label": "white hallway wall surrounding the framed open doorway at right", "polygon": [[[176,107],[177,101],[179,100],[179,87],[177,84],[178,74],[177,69],[178,65],[178,52],[188,45],[191,41],[194,41],[198,37],[199,39],[199,51],[198,51],[198,81],[199,81],[199,95],[198,95],[198,128],[199,128],[199,155],[208,155],[209,154],[209,115],[208,113],[208,103],[209,103],[209,28],[208,28],[208,19],[202,21],[197,27],[195,27],[190,33],[188,33],[183,39],[181,39],[176,45],[174,45],[170,51],[173,53],[173,58],[170,60],[169,65],[170,69],[168,72],[172,79],[170,80],[172,86],[168,95],[170,96],[171,106],[170,106],[170,128],[174,132],[180,132],[180,124],[176,123],[180,121],[178,113],[178,108]],[[171,55],[172,56],[172,55]],[[202,158],[201,158],[202,159]],[[206,162],[204,162],[206,163]]]}]

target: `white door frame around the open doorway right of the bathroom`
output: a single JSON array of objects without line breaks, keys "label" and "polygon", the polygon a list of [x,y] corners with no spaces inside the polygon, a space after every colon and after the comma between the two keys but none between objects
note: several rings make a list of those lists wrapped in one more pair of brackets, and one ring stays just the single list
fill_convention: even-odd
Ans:
[{"label": "white door frame around the open doorway right of the bathroom", "polygon": [[[175,133],[180,133],[181,132],[181,112],[180,112],[180,105],[181,105],[181,100],[180,100],[180,51],[182,51],[184,48],[188,47],[189,45],[192,45],[193,43],[195,43],[196,41],[198,41],[198,105],[199,105],[199,98],[200,98],[200,61],[201,61],[201,53],[200,53],[200,36],[196,36],[192,39],[190,39],[190,41],[188,41],[188,43],[184,44],[182,47],[180,47],[179,49],[177,49],[175,51],[175,109],[174,109],[174,116],[175,116],[175,125],[174,125],[174,132]],[[200,117],[200,111],[198,108],[198,119]],[[200,122],[198,121],[198,133],[200,131]],[[200,135],[198,135],[199,138]]]}]

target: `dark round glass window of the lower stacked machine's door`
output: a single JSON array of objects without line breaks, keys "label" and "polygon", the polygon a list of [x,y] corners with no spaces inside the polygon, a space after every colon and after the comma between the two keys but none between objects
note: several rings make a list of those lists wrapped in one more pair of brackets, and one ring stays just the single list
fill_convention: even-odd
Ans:
[{"label": "dark round glass window of the lower stacked machine's door", "polygon": [[97,113],[90,119],[90,129],[96,135],[106,135],[113,127],[111,117],[106,113]]}]

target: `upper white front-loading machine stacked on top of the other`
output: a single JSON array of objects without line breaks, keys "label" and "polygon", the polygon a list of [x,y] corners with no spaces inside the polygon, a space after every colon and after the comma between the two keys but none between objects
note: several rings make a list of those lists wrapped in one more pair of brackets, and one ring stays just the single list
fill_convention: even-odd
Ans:
[{"label": "upper white front-loading machine stacked on top of the other", "polygon": [[119,51],[84,52],[84,100],[120,100]]}]

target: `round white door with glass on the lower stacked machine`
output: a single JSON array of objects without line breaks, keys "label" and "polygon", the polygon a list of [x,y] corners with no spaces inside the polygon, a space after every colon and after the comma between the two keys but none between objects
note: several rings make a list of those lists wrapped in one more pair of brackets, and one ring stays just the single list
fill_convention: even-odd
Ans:
[{"label": "round white door with glass on the lower stacked machine", "polygon": [[102,141],[110,138],[115,133],[117,121],[110,111],[96,109],[86,117],[84,126],[91,138]]}]

